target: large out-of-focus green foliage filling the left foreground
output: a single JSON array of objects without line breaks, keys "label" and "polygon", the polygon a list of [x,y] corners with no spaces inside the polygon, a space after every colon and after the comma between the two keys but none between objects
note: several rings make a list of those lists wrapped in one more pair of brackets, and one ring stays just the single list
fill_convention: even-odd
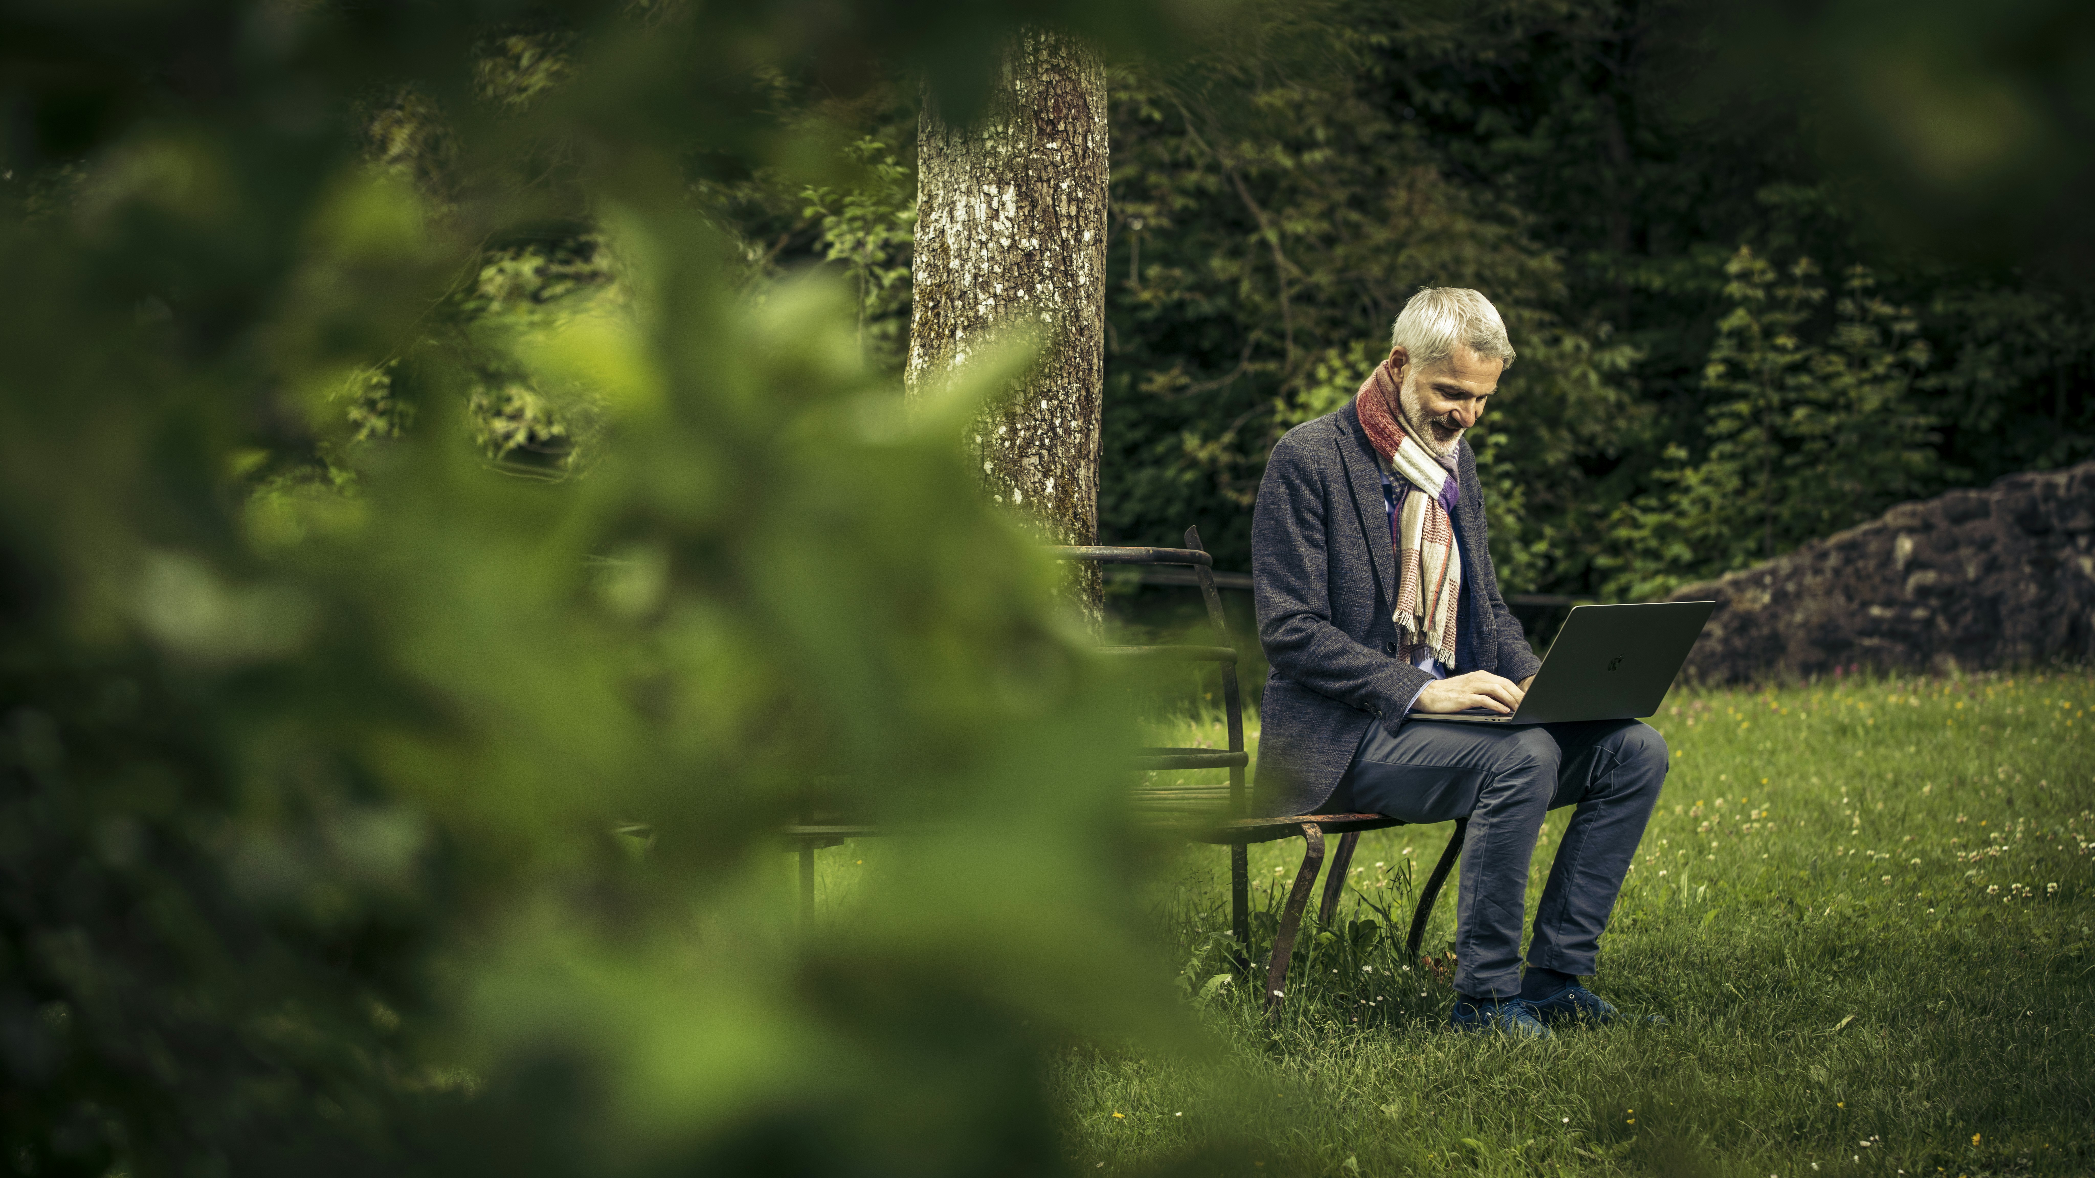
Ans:
[{"label": "large out-of-focus green foliage filling the left foreground", "polygon": [[[1056,1172],[1039,1044],[1171,1033],[966,405],[706,199],[848,182],[767,78],[1006,19],[832,17],[0,17],[17,1172]],[[945,834],[796,931],[811,780]]]}]

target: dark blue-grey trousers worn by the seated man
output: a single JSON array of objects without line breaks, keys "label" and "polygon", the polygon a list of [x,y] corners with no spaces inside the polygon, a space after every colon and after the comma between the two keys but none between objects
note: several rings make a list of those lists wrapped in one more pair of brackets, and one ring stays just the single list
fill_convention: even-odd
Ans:
[{"label": "dark blue-grey trousers worn by the seated man", "polygon": [[1634,719],[1500,727],[1370,723],[1326,811],[1469,817],[1454,912],[1454,987],[1521,991],[1527,864],[1544,813],[1575,805],[1542,889],[1527,964],[1590,975],[1601,931],[1666,782],[1666,740]]}]

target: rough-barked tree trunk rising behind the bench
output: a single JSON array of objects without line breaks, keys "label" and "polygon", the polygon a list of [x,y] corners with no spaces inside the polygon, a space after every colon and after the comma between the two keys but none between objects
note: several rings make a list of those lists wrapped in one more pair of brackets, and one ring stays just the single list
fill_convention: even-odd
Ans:
[{"label": "rough-barked tree trunk rising behind the bench", "polygon": [[[1075,38],[1014,36],[974,126],[926,96],[911,300],[911,402],[995,340],[1033,335],[1033,367],[983,402],[964,444],[983,495],[1043,543],[1098,543],[1106,71]],[[1073,564],[1068,591],[1096,629],[1098,566]]]}]

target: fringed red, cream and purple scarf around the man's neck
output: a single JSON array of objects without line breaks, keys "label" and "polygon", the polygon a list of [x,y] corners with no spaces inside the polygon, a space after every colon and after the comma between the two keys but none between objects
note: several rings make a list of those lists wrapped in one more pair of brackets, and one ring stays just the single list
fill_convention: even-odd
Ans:
[{"label": "fringed red, cream and purple scarf around the man's neck", "polygon": [[[1462,599],[1462,566],[1454,560],[1454,507],[1462,501],[1462,484],[1454,476],[1454,459],[1435,457],[1404,434],[1404,428],[1389,413],[1397,400],[1397,377],[1389,371],[1389,361],[1376,365],[1353,396],[1360,411],[1360,428],[1366,430],[1374,453],[1383,455],[1397,482],[1395,518],[1389,526],[1389,545],[1397,555],[1397,604],[1393,620],[1404,635],[1406,662],[1416,660],[1418,643],[1427,643],[1433,658],[1454,669],[1454,627],[1456,606]],[[1410,495],[1412,488],[1425,495]]]}]

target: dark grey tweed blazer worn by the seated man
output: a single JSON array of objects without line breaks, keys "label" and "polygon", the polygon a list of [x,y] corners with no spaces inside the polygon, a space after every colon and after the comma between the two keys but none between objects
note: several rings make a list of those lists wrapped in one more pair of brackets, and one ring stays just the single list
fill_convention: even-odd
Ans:
[{"label": "dark grey tweed blazer worn by the seated man", "polygon": [[[1452,673],[1519,681],[1542,660],[1498,595],[1483,486],[1469,442],[1456,449],[1462,501],[1462,606]],[[1286,432],[1251,516],[1259,643],[1272,673],[1259,706],[1261,815],[1309,813],[1330,799],[1370,723],[1389,732],[1431,679],[1397,658],[1397,558],[1383,478],[1351,402]]]}]

